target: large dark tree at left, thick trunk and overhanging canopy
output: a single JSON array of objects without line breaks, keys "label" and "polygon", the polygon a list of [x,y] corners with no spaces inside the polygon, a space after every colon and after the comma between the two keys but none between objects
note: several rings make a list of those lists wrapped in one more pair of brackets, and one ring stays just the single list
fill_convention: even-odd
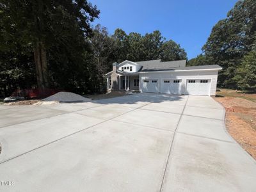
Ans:
[{"label": "large dark tree at left, thick trunk and overhanging canopy", "polygon": [[[97,7],[86,0],[1,0],[4,38],[14,44],[31,45],[38,88],[49,87],[47,51],[70,38],[79,38],[83,44],[81,37],[90,35],[90,22],[98,14]],[[15,35],[8,36],[12,31]]]}]

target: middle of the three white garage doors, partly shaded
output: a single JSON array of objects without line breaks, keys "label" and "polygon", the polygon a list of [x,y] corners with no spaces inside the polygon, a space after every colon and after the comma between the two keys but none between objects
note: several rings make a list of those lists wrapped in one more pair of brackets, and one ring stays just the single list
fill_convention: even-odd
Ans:
[{"label": "middle of the three white garage doors, partly shaded", "polygon": [[161,84],[161,93],[180,94],[181,79],[164,79]]}]

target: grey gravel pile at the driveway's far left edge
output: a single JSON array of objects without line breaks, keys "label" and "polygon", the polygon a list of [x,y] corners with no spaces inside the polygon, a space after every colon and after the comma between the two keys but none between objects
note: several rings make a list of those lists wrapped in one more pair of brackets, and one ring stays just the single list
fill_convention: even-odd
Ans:
[{"label": "grey gravel pile at the driveway's far left edge", "polygon": [[58,92],[50,97],[42,99],[42,101],[56,101],[56,102],[87,102],[91,99],[77,95],[71,92]]}]

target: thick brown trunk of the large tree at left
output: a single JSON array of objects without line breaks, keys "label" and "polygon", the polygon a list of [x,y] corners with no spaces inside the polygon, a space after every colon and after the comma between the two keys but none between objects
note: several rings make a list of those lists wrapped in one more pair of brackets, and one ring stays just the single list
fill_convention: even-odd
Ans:
[{"label": "thick brown trunk of the large tree at left", "polygon": [[38,88],[49,87],[49,76],[47,70],[46,50],[42,42],[37,42],[34,50],[34,60],[36,67],[36,80]]}]

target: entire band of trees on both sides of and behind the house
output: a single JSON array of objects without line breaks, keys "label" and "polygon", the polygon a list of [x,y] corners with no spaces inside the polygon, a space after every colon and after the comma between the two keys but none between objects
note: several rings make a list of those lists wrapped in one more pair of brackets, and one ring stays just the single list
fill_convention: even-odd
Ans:
[{"label": "entire band of trees on both sides of and behind the house", "polygon": [[[0,0],[0,95],[17,88],[104,92],[104,74],[115,61],[187,60],[160,31],[109,35],[93,27],[99,13],[85,0]],[[188,65],[221,65],[219,86],[255,90],[255,13],[255,1],[238,1]]]}]

